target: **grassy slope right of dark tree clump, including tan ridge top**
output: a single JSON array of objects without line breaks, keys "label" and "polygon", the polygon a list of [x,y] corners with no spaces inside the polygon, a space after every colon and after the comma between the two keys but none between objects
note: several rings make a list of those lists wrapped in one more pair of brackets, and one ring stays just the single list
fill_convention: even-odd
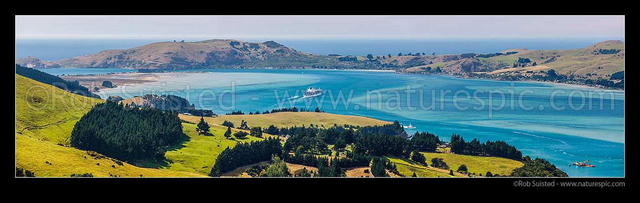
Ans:
[{"label": "grassy slope right of dark tree clump, including tan ridge top", "polygon": [[[197,123],[200,121],[198,116],[186,116],[179,114],[180,119]],[[154,169],[168,169],[184,172],[193,172],[197,174],[209,174],[211,167],[215,163],[218,154],[228,147],[236,145],[236,141],[251,142],[253,140],[262,140],[260,138],[248,136],[244,139],[225,139],[224,133],[226,126],[221,126],[223,121],[231,121],[239,126],[240,121],[244,119],[248,126],[267,127],[271,124],[278,127],[290,126],[309,126],[310,123],[324,124],[324,126],[333,126],[334,123],[339,125],[353,124],[360,126],[381,125],[390,122],[379,121],[367,117],[360,116],[342,116],[337,114],[316,113],[316,112],[277,112],[273,114],[257,114],[257,115],[227,115],[218,117],[204,117],[205,121],[211,126],[211,135],[198,135],[195,132],[196,125],[183,123],[184,133],[188,138],[183,139],[182,143],[168,149],[166,160],[160,162],[141,163],[143,167]],[[245,131],[232,128],[232,132]],[[273,136],[264,134],[263,137]],[[245,167],[246,168],[246,167]],[[236,176],[242,170],[234,170],[235,172],[227,172],[225,176]],[[234,175],[230,175],[234,174]]]}]

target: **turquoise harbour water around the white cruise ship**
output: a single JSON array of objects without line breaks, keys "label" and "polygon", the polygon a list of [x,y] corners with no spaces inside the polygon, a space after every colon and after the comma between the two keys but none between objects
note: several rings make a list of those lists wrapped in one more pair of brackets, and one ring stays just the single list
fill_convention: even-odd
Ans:
[{"label": "turquoise harbour water around the white cruise ship", "polygon": [[[595,88],[565,84],[380,71],[208,71],[211,73],[161,73],[159,77],[179,77],[105,89],[99,94],[103,98],[108,95],[131,98],[149,93],[179,94],[198,109],[211,109],[217,114],[232,110],[263,112],[292,105],[305,109],[320,107],[333,114],[411,123],[417,128],[408,133],[428,131],[446,141],[451,133],[460,134],[467,140],[478,138],[482,142],[504,140],[525,155],[549,160],[572,177],[625,176],[623,91],[603,94]],[[323,97],[295,97],[301,96],[309,86],[323,89]],[[232,90],[235,94],[230,93]],[[378,91],[380,94],[376,94]],[[465,92],[472,97],[465,96]],[[454,96],[455,93],[460,94]],[[340,95],[346,100],[337,100]],[[519,99],[521,95],[522,99]],[[553,102],[550,101],[552,95],[555,95]],[[583,99],[585,106],[579,108]],[[570,165],[585,160],[596,167]]]}]

